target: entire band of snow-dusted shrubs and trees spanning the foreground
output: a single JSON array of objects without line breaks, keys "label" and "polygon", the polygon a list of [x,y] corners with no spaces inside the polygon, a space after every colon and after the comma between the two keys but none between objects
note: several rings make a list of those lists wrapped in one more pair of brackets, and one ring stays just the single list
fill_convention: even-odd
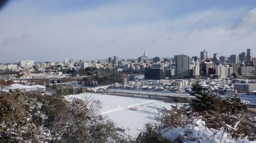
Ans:
[{"label": "entire band of snow-dusted shrubs and trees spanning the foreground", "polygon": [[[256,140],[255,112],[237,95],[220,95],[193,85],[189,104],[159,110],[137,138],[122,137],[115,123],[100,115],[100,101],[71,102],[58,94],[41,96],[16,90],[0,94],[0,142],[181,143]],[[79,89],[80,90],[80,89]],[[66,92],[66,93],[65,93]],[[69,88],[65,94],[73,93]],[[81,92],[82,88],[81,88]]]}]

